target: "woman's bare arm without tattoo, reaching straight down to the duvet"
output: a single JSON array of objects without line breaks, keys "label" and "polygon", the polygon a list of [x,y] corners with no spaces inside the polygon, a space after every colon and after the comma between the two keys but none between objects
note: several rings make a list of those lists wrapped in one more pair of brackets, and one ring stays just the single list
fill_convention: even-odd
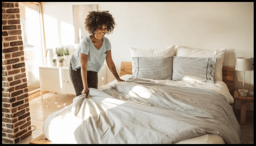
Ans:
[{"label": "woman's bare arm without tattoo, reaching straight down to the duvet", "polygon": [[82,94],[88,95],[88,86],[87,86],[87,61],[88,55],[80,53],[80,64],[81,64],[81,76],[83,81],[83,91]]}]

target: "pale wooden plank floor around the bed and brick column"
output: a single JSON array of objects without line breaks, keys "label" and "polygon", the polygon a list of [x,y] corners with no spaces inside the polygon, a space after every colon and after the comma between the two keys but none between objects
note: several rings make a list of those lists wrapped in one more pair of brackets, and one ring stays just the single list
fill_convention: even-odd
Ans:
[{"label": "pale wooden plank floor around the bed and brick column", "polygon": [[[56,111],[70,105],[73,103],[73,99],[75,95],[69,94],[54,94],[52,92],[48,92],[43,95],[43,100],[41,100],[41,96],[32,99],[29,101],[30,108],[30,116],[31,116],[31,129],[32,135],[23,139],[22,141],[16,144],[29,144],[30,141],[37,138],[39,135],[43,134],[42,125],[44,124],[45,119],[53,114]],[[236,114],[236,112],[235,112]],[[236,115],[237,119],[240,119],[240,115]],[[241,125],[241,143],[244,144],[253,144],[254,139],[254,126],[253,126],[253,117],[246,117],[246,124]],[[35,127],[33,127],[35,126]],[[2,141],[2,144],[9,144]]]}]

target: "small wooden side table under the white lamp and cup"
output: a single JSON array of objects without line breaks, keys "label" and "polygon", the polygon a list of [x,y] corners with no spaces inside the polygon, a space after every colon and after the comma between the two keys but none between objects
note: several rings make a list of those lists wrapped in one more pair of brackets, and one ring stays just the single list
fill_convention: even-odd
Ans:
[{"label": "small wooden side table under the white lamp and cup", "polygon": [[247,102],[253,102],[253,97],[250,97],[247,95],[247,97],[242,97],[238,93],[238,90],[234,91],[234,100],[240,100],[242,101],[242,106],[241,106],[241,120],[240,124],[245,124],[245,117],[246,117],[246,105]]}]

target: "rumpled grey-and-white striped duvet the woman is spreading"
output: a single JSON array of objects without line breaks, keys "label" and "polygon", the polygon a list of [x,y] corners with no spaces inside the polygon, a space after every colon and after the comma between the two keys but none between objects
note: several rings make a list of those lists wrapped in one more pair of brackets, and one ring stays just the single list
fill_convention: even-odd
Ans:
[{"label": "rumpled grey-and-white striped duvet the woman is spreading", "polygon": [[175,143],[207,133],[240,143],[240,126],[225,96],[142,78],[90,88],[87,99],[73,100],[72,115],[83,121],[74,131],[77,143]]}]

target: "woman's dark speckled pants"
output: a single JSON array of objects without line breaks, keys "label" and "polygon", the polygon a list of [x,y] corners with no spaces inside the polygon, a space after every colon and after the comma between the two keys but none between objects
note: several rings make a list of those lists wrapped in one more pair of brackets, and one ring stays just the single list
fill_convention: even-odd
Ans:
[{"label": "woman's dark speckled pants", "polygon": [[[83,81],[81,69],[72,69],[71,61],[69,62],[69,76],[75,88],[76,96],[82,95]],[[98,72],[87,71],[87,86],[88,88],[98,89]]]}]

